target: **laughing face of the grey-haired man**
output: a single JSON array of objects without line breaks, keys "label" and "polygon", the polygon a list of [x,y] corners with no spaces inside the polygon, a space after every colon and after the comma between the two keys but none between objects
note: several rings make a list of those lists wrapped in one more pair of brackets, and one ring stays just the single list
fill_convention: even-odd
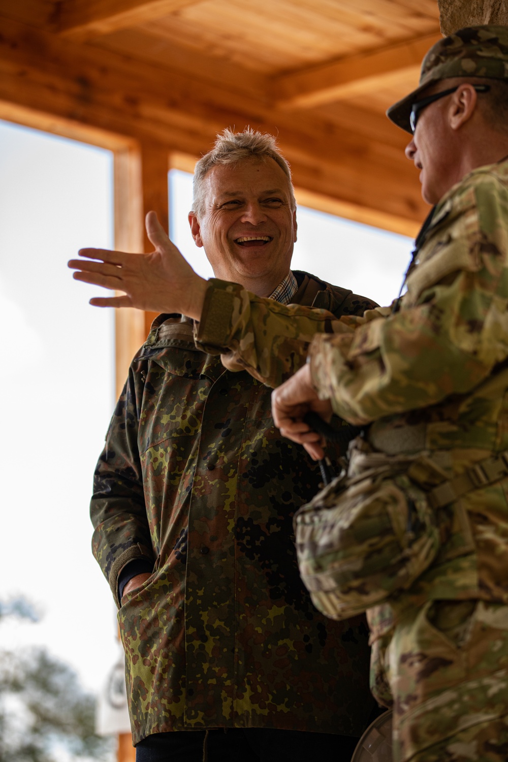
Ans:
[{"label": "laughing face of the grey-haired man", "polygon": [[204,213],[189,215],[213,272],[271,293],[288,274],[296,242],[289,181],[272,158],[215,165],[204,178]]}]

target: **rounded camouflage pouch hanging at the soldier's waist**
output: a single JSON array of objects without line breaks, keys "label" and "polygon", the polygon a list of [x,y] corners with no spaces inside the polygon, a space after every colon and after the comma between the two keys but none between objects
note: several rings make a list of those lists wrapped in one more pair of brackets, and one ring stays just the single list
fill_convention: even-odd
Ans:
[{"label": "rounded camouflage pouch hanging at the soldier's waist", "polygon": [[312,602],[347,619],[407,589],[439,549],[425,491],[389,463],[334,479],[296,513],[296,552]]}]

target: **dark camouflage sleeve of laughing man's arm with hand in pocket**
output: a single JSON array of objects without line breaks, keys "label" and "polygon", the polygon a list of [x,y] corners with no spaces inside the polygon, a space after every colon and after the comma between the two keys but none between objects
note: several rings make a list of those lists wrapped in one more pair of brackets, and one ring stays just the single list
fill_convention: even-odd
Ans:
[{"label": "dark camouflage sleeve of laughing man's arm with hand in pocket", "polygon": [[117,581],[122,568],[133,559],[146,559],[153,565],[138,427],[136,383],[131,367],[95,469],[90,505],[94,525],[92,551],[119,607]]}]

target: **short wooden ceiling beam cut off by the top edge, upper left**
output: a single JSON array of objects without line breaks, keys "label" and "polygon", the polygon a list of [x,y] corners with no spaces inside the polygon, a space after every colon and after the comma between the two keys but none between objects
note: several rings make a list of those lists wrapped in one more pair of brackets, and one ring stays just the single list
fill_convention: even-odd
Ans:
[{"label": "short wooden ceiling beam cut off by the top edge, upper left", "polygon": [[63,37],[84,42],[168,16],[199,0],[63,0],[54,23]]}]

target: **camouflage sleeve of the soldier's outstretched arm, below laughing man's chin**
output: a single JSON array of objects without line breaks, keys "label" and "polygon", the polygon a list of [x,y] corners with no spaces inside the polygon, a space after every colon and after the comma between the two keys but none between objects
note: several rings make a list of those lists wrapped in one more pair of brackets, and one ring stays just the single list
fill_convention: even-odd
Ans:
[{"label": "camouflage sleeve of the soldier's outstretched arm, below laughing man's chin", "polygon": [[212,278],[194,338],[201,350],[220,354],[228,370],[248,370],[275,387],[302,367],[316,333],[350,331],[355,320],[338,325],[326,309],[286,306]]}]

